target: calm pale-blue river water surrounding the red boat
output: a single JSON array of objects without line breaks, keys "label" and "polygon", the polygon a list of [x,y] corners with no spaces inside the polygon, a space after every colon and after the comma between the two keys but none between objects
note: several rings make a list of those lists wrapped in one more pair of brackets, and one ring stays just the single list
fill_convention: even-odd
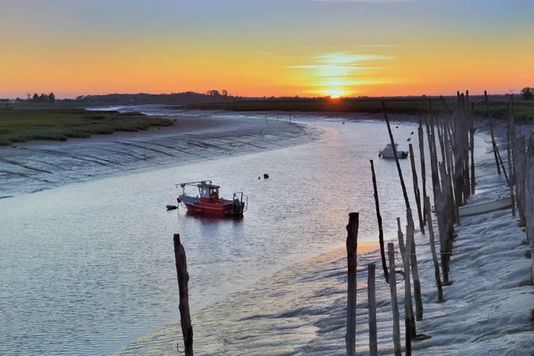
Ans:
[{"label": "calm pale-blue river water surrounding the red boat", "polygon": [[[369,158],[384,229],[395,230],[400,184],[394,162],[377,158],[385,124],[307,123],[325,129],[324,140],[1,199],[0,354],[109,354],[179,320],[174,232],[188,255],[193,312],[343,246],[351,211],[360,211],[360,240],[375,241]],[[395,129],[398,142],[414,127]],[[258,180],[263,173],[271,178]],[[245,218],[166,212],[175,183],[200,179],[220,184],[223,197],[245,191]]]}]

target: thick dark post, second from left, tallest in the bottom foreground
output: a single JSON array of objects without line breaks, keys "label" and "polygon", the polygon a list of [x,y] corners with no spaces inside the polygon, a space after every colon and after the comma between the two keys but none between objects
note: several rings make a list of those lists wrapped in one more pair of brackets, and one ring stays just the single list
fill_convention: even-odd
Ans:
[{"label": "thick dark post, second from left, tallest in the bottom foreground", "polygon": [[347,262],[349,265],[348,291],[347,291],[347,333],[345,344],[347,356],[356,356],[356,269],[358,249],[358,225],[360,214],[349,214],[347,225]]}]

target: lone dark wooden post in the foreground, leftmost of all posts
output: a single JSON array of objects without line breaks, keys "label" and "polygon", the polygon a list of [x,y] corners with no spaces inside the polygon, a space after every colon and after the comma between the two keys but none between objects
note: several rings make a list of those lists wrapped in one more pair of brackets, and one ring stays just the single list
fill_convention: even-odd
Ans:
[{"label": "lone dark wooden post in the foreground, leftmost of all posts", "polygon": [[189,273],[187,272],[187,258],[180,242],[180,234],[174,234],[174,259],[178,273],[178,289],[180,290],[180,323],[182,324],[183,344],[185,356],[193,356],[193,327],[189,310]]}]

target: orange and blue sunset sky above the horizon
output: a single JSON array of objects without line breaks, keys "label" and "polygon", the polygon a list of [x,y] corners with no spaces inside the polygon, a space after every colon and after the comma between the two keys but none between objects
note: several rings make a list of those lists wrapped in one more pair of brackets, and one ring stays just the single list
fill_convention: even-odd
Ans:
[{"label": "orange and blue sunset sky above the horizon", "polygon": [[2,0],[0,97],[534,86],[532,0]]}]

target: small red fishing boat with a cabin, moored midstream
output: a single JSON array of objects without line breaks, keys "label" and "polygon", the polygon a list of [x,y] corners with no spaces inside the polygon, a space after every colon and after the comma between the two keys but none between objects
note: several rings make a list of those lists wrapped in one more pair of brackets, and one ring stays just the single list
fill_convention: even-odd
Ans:
[{"label": "small red fishing boat with a cabin, moored midstream", "polygon": [[[243,192],[233,193],[231,200],[223,199],[219,196],[221,187],[212,184],[212,181],[185,182],[176,184],[176,188],[178,187],[182,187],[178,204],[183,203],[189,213],[240,217],[247,211],[248,197]],[[198,195],[188,195],[186,187],[198,188]]]}]

